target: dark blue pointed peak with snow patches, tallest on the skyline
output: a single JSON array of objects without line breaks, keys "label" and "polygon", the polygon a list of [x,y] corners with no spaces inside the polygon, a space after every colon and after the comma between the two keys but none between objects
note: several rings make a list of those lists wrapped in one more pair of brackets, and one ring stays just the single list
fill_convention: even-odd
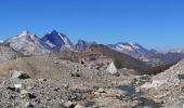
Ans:
[{"label": "dark blue pointed peak with snow patches, tallest on the skyline", "polygon": [[64,33],[60,33],[56,30],[44,35],[41,41],[48,44],[54,52],[74,51],[71,41]]}]

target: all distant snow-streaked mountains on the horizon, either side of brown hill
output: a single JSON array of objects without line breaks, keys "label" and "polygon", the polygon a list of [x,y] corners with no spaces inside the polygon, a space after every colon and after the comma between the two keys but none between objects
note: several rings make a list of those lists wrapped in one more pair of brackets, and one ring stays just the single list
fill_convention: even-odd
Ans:
[{"label": "all distant snow-streaked mountains on the horizon, either side of brown hill", "polygon": [[[82,52],[90,45],[97,44],[84,40],[78,40],[78,42],[74,44],[66,35],[56,30],[45,33],[42,38],[38,38],[36,35],[25,30],[17,36],[0,41],[0,43],[12,48],[23,55],[43,55],[61,51]],[[162,53],[156,50],[147,50],[141,44],[133,42],[118,42],[116,44],[106,44],[106,46],[130,55],[150,66],[175,64],[184,58],[183,49],[170,50]]]}]

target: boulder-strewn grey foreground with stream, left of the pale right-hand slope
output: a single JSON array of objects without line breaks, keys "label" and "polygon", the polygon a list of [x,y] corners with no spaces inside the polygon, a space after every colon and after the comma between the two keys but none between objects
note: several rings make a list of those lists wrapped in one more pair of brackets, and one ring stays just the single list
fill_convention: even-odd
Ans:
[{"label": "boulder-strewn grey foreground with stream, left of the pale right-hand slope", "polygon": [[16,72],[0,78],[1,108],[142,108],[156,107],[130,85],[77,87],[61,81],[30,79]]}]

